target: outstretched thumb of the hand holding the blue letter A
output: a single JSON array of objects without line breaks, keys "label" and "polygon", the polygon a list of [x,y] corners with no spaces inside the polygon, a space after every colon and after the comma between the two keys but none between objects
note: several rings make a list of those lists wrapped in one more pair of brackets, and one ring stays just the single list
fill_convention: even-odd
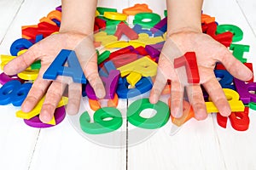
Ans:
[{"label": "outstretched thumb of the hand holding the blue letter A", "polygon": [[37,59],[36,51],[37,46],[33,45],[26,51],[26,53],[12,59],[7,65],[5,65],[3,71],[7,75],[15,75],[26,70],[26,68],[32,65],[32,63]]}]

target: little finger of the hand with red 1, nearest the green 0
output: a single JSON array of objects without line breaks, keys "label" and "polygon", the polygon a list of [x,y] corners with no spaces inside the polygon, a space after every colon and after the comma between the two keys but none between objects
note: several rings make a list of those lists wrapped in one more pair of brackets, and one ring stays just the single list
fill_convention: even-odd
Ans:
[{"label": "little finger of the hand with red 1, nearest the green 0", "polygon": [[166,82],[166,77],[164,76],[160,67],[158,67],[157,75],[155,77],[154,84],[149,95],[150,103],[156,104],[158,102],[163,89],[166,87]]}]

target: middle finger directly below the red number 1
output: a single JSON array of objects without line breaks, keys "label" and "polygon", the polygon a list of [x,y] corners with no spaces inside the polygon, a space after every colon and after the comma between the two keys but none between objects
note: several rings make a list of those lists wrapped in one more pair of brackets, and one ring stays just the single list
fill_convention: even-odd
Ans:
[{"label": "middle finger directly below the red number 1", "polygon": [[199,85],[190,85],[186,87],[189,97],[189,103],[195,112],[196,120],[204,120],[207,118],[207,107]]}]

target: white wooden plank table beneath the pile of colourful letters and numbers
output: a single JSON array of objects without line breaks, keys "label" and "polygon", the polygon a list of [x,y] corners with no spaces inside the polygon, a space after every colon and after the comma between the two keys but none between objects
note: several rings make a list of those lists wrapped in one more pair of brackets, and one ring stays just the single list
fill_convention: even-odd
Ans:
[{"label": "white wooden plank table beneath the pile of colourful letters and numbers", "polygon": [[[148,3],[149,8],[161,15],[165,8],[164,3],[155,0],[102,0],[100,4],[121,9],[134,3]],[[0,54],[9,54],[11,43],[21,36],[20,26],[37,24],[60,4],[60,0],[1,0]],[[204,13],[215,16],[219,24],[241,27],[244,38],[239,43],[251,46],[245,57],[253,62],[254,70],[255,8],[253,0],[206,1],[203,8]],[[124,116],[131,102],[131,99],[119,101],[118,108]],[[86,101],[84,103],[85,109],[90,110]],[[19,108],[12,105],[0,106],[0,169],[256,169],[256,111],[252,110],[246,132],[237,132],[230,122],[226,129],[219,127],[216,115],[212,114],[202,122],[190,120],[173,136],[169,133],[172,124],[168,122],[139,144],[134,139],[148,131],[141,129],[141,133],[135,134],[132,131],[135,127],[124,119],[114,136],[115,146],[123,147],[114,149],[84,139],[67,117],[59,126],[35,129],[15,117],[17,110]],[[101,138],[109,139],[108,135]]]}]

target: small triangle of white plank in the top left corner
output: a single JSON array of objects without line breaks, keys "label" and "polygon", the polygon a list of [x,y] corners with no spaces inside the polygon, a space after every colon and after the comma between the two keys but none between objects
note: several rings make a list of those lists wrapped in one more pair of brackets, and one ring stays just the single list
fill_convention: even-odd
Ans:
[{"label": "small triangle of white plank in the top left corner", "polygon": [[2,0],[0,2],[0,44],[3,40],[3,37],[6,34],[6,31],[9,29],[9,25],[15,19],[17,12],[20,9],[21,4],[24,0],[15,0],[15,1],[8,1]]}]

